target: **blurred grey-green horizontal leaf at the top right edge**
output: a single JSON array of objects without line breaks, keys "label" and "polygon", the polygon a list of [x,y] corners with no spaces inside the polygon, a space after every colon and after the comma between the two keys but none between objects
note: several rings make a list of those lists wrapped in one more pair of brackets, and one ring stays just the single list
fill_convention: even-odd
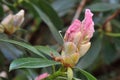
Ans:
[{"label": "blurred grey-green horizontal leaf at the top right edge", "polygon": [[120,9],[120,4],[94,3],[88,6],[88,8],[95,12],[105,12],[109,10]]}]

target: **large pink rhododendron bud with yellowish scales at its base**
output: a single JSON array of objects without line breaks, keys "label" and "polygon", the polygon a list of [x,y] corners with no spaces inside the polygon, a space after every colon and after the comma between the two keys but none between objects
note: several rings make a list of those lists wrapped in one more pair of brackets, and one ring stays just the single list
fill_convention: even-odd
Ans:
[{"label": "large pink rhododendron bud with yellowish scales at its base", "polygon": [[85,18],[81,22],[74,20],[64,36],[64,48],[62,60],[64,66],[74,67],[79,58],[90,48],[90,39],[94,33],[93,14],[89,9],[85,10]]}]

